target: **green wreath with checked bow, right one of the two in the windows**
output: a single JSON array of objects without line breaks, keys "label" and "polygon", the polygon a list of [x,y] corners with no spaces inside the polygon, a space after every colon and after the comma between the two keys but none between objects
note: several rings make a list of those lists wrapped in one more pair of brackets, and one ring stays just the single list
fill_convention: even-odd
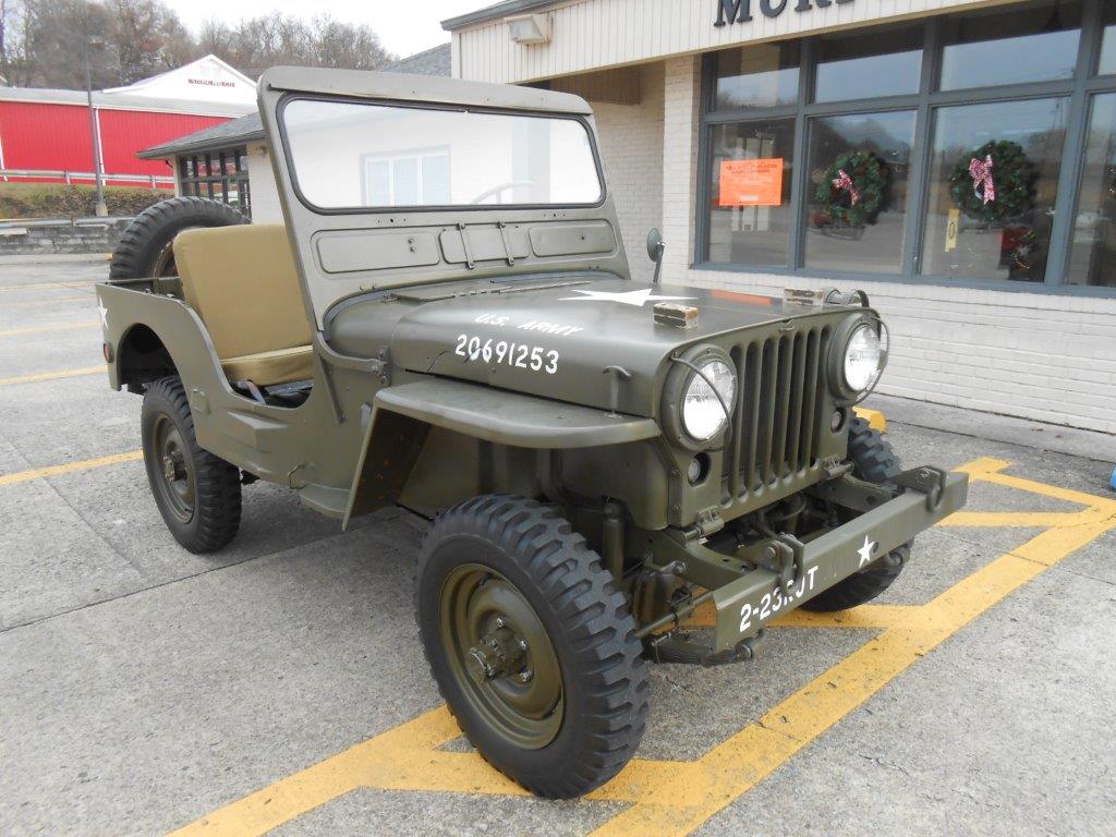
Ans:
[{"label": "green wreath with checked bow, right one of the two in the windows", "polygon": [[1035,166],[1018,143],[993,140],[953,167],[950,196],[969,218],[988,224],[1019,218],[1031,208]]}]

